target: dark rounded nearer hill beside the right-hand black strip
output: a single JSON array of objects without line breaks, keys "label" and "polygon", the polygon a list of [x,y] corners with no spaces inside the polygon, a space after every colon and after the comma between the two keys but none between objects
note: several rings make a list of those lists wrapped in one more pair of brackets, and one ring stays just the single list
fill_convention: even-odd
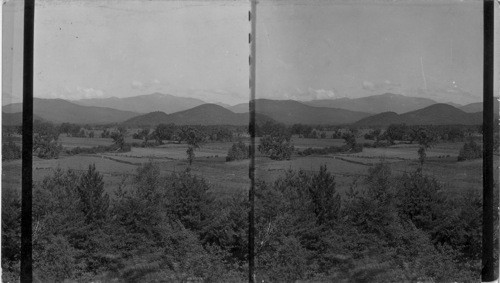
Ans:
[{"label": "dark rounded nearer hill beside the right-hand black strip", "polygon": [[390,124],[407,125],[480,125],[482,112],[466,113],[448,104],[438,103],[419,110],[397,114],[384,112],[361,119],[357,126],[388,126]]}]

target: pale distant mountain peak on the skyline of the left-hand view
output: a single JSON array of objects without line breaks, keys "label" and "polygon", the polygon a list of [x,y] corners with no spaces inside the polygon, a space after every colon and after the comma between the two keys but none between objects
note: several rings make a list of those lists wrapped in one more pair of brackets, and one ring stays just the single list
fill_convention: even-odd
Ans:
[{"label": "pale distant mountain peak on the skyline of the left-hand view", "polygon": [[84,106],[109,107],[137,113],[162,111],[167,114],[187,110],[206,103],[196,98],[178,97],[157,92],[133,97],[91,98],[72,102]]}]

